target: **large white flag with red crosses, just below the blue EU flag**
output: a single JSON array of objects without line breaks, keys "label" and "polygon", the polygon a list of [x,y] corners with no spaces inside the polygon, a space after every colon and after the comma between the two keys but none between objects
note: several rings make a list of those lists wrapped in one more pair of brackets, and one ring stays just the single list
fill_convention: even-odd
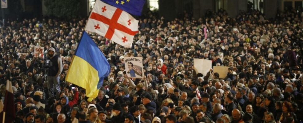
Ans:
[{"label": "large white flag with red crosses, just below the blue EU flag", "polygon": [[139,32],[138,23],[139,21],[127,12],[96,0],[85,30],[95,32],[119,45],[130,48],[134,35]]}]

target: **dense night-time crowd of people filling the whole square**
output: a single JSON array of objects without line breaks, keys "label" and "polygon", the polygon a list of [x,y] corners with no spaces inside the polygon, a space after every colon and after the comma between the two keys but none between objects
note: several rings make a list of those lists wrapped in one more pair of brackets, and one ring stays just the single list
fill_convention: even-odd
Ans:
[{"label": "dense night-time crowd of people filling the whole square", "polygon": [[[98,96],[65,81],[86,18],[9,20],[1,27],[0,95],[12,83],[15,123],[300,123],[303,13],[225,10],[203,18],[139,21],[132,48],[89,33],[108,58]],[[34,54],[45,47],[45,68]],[[19,53],[26,53],[20,55]],[[144,77],[127,77],[124,57],[143,57]],[[227,77],[197,73],[193,59],[229,66]]]}]

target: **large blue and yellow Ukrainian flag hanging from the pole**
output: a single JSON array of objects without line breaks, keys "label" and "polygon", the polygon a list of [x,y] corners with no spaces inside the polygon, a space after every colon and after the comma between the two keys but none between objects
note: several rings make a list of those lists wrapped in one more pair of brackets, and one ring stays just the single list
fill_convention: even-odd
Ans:
[{"label": "large blue and yellow Ukrainian flag hanging from the pole", "polygon": [[83,31],[65,80],[86,89],[89,101],[96,98],[110,66],[96,43]]}]

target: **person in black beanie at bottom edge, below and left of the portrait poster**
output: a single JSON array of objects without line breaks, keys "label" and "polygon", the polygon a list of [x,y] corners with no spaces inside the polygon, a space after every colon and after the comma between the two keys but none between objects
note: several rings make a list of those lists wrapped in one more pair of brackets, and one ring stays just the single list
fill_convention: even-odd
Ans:
[{"label": "person in black beanie at bottom edge, below and left of the portrait poster", "polygon": [[119,103],[115,103],[113,105],[113,109],[112,109],[112,114],[113,114],[113,117],[112,117],[112,122],[113,123],[122,123],[124,122],[125,120],[125,116],[127,115],[121,105]]}]

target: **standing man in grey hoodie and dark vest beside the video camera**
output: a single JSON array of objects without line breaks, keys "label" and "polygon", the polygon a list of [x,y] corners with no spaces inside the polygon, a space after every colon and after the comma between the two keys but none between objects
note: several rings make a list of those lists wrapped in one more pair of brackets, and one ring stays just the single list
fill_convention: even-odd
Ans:
[{"label": "standing man in grey hoodie and dark vest beside the video camera", "polygon": [[53,92],[58,96],[60,93],[59,75],[63,70],[62,60],[58,55],[56,55],[56,50],[53,47],[48,50],[48,58],[52,62],[52,66],[49,67],[47,79],[49,81],[50,88],[53,89]]}]

